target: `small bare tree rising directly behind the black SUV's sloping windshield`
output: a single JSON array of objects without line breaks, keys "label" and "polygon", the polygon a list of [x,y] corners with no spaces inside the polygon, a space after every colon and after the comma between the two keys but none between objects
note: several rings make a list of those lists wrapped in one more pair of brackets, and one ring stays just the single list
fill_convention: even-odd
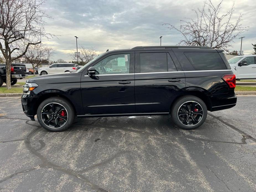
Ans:
[{"label": "small bare tree rising directly behind the black SUV's sloping windshield", "polygon": [[[78,56],[78,59],[81,61],[82,65],[85,65],[89,61],[91,61],[94,57],[97,56],[96,51],[93,47],[91,48],[84,48],[84,46],[79,46],[80,56]],[[77,61],[77,55],[74,53],[69,53],[69,56]],[[77,63],[78,64],[78,63]]]}]

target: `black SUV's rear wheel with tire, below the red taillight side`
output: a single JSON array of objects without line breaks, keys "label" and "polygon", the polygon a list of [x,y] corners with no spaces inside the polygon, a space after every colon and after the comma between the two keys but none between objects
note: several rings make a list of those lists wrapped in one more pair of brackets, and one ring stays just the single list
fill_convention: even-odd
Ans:
[{"label": "black SUV's rear wheel with tire, below the red taillight side", "polygon": [[198,97],[186,95],[178,98],[171,108],[171,118],[182,129],[196,129],[206,120],[207,107]]}]

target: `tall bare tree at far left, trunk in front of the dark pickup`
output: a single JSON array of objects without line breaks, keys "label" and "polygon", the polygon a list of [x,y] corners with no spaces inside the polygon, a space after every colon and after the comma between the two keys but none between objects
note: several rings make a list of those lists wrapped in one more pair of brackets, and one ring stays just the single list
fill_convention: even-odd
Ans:
[{"label": "tall bare tree at far left, trunk in front of the dark pickup", "polygon": [[[6,88],[11,89],[11,64],[22,58],[30,45],[41,43],[41,37],[52,37],[44,29],[44,17],[40,9],[45,0],[0,1],[0,50],[6,60]],[[23,49],[20,52],[17,50]]]}]

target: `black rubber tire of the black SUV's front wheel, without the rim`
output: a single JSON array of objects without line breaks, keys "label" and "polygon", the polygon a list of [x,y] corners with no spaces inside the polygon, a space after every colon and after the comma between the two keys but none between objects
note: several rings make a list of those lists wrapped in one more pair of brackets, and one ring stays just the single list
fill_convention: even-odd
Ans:
[{"label": "black rubber tire of the black SUV's front wheel, without the rim", "polygon": [[[60,128],[50,128],[48,126],[46,126],[43,123],[43,120],[41,118],[41,111],[43,110],[43,107],[45,107],[45,105],[50,104],[50,103],[59,103],[60,105],[63,105],[63,107],[66,108],[66,111],[68,113],[68,120],[67,122],[64,124],[64,126],[60,127]],[[53,132],[57,132],[57,131],[64,131],[65,129],[67,129],[74,121],[74,109],[73,106],[65,99],[63,98],[58,98],[58,97],[51,97],[48,98],[46,100],[44,100],[37,109],[37,120],[40,123],[40,125],[45,128],[48,131],[53,131]]]}]

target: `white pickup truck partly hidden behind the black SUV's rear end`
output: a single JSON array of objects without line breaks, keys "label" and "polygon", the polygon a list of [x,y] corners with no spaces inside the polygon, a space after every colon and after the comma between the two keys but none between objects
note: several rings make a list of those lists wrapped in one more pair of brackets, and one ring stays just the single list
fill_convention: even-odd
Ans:
[{"label": "white pickup truck partly hidden behind the black SUV's rear end", "polygon": [[256,79],[256,55],[236,56],[228,62],[237,80]]}]

